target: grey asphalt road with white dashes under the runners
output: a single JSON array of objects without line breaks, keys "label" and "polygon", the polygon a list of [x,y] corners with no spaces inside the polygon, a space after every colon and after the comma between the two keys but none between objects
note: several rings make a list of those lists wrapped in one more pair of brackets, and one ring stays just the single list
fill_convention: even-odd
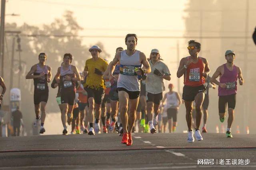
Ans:
[{"label": "grey asphalt road with white dashes under the runners", "polygon": [[256,135],[202,136],[188,143],[186,133],[135,133],[129,147],[116,133],[6,137],[0,169],[256,169]]}]

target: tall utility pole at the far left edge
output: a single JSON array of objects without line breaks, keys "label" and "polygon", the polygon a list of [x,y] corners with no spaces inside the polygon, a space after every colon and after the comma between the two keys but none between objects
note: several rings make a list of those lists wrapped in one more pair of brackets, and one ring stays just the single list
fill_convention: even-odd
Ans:
[{"label": "tall utility pole at the far left edge", "polygon": [[1,21],[0,21],[0,60],[1,75],[4,77],[4,24],[5,24],[5,3],[6,0],[1,0]]}]

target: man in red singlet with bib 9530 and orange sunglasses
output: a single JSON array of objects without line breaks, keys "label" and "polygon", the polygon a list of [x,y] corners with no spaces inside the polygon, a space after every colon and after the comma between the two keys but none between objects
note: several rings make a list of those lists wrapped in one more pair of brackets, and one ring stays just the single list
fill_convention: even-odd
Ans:
[{"label": "man in red singlet with bib 9530 and orange sunglasses", "polygon": [[204,92],[206,90],[204,83],[210,68],[205,58],[199,57],[201,44],[195,40],[188,41],[188,52],[190,56],[180,60],[180,66],[177,71],[177,77],[184,75],[184,87],[182,99],[186,106],[186,121],[188,125],[188,142],[194,142],[194,134],[191,126],[193,101],[196,103],[196,140],[201,141],[203,137],[199,131],[202,117],[202,103],[204,101]]}]

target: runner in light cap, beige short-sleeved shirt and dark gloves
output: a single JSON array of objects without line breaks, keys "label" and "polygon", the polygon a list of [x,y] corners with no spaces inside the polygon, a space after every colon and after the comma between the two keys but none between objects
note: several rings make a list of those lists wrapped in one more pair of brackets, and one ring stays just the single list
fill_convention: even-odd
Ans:
[{"label": "runner in light cap, beige short-sleeved shirt and dark gloves", "polygon": [[[147,116],[150,133],[156,133],[155,126],[158,123],[159,105],[163,98],[164,79],[170,81],[171,74],[168,66],[160,61],[160,54],[158,49],[152,49],[150,53],[150,67],[151,72],[147,74],[146,78],[146,92],[147,92]],[[154,108],[154,116],[153,116]],[[153,120],[153,121],[152,121]]]}]

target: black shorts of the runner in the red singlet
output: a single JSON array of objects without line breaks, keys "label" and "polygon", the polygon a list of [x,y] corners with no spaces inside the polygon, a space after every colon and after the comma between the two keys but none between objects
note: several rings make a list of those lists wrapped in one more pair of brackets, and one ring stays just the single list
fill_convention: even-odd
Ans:
[{"label": "black shorts of the runner in the red singlet", "polygon": [[198,93],[205,93],[205,86],[184,86],[183,87],[183,94],[182,94],[182,99],[187,101],[187,102],[192,102],[195,100],[195,97]]}]

